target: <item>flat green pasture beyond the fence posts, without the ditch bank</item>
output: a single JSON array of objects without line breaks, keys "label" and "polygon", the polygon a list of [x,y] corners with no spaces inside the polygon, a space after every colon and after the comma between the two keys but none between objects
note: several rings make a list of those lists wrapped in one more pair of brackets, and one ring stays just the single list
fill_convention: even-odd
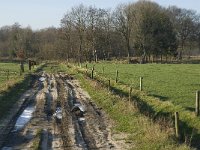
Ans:
[{"label": "flat green pasture beyond the fence posts, without the ditch bank", "polygon": [[113,80],[118,70],[119,83],[135,89],[139,89],[139,79],[143,77],[143,89],[148,95],[194,111],[195,93],[200,90],[198,64],[95,63],[88,64],[88,69],[92,69],[93,66],[97,74]]}]

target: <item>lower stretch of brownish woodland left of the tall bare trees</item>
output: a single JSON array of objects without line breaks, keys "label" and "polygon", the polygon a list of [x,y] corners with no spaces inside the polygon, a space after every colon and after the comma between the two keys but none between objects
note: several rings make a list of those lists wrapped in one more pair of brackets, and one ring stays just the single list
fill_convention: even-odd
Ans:
[{"label": "lower stretch of brownish woodland left of the tall bare trees", "polygon": [[48,59],[51,57],[49,51],[54,51],[56,33],[55,28],[33,31],[18,23],[4,26],[0,28],[0,56]]}]

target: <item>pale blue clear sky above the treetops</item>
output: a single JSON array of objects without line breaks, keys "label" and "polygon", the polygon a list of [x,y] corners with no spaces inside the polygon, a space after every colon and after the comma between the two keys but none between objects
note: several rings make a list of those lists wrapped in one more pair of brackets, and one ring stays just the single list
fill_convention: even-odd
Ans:
[{"label": "pale blue clear sky above the treetops", "polygon": [[[83,4],[114,9],[118,4],[137,0],[0,0],[0,27],[15,22],[33,30],[60,27],[60,20],[72,7]],[[200,0],[151,0],[161,6],[176,5],[200,13]]]}]

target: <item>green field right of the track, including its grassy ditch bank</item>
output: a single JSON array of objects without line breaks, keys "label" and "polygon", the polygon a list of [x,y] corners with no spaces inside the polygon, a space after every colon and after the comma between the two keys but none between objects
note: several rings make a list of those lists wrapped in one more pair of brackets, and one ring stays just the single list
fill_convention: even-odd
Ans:
[{"label": "green field right of the track, including its grassy ditch bank", "polygon": [[[85,65],[85,64],[84,64]],[[95,66],[94,66],[95,65]],[[169,120],[174,123],[174,113],[179,112],[181,141],[200,147],[200,117],[195,116],[196,91],[200,89],[199,65],[195,64],[88,64],[88,76],[94,66],[94,79],[111,90],[128,97],[133,87],[131,101],[140,113],[153,120]],[[81,73],[86,69],[75,67]],[[104,67],[104,73],[103,73]],[[115,83],[116,70],[119,83]],[[139,78],[143,79],[143,91],[139,91]],[[162,124],[163,121],[161,121]],[[165,122],[165,121],[164,121]],[[190,140],[192,139],[192,140]]]}]

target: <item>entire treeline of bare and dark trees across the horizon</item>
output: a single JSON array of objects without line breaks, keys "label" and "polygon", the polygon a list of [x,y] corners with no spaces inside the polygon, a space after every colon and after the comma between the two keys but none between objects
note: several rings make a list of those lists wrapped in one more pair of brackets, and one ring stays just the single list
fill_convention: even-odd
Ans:
[{"label": "entire treeline of bare and dark trees across the horizon", "polygon": [[11,59],[127,58],[144,63],[199,52],[200,15],[151,1],[121,4],[113,11],[79,5],[66,12],[60,28],[33,31],[15,23],[0,29],[0,56]]}]

